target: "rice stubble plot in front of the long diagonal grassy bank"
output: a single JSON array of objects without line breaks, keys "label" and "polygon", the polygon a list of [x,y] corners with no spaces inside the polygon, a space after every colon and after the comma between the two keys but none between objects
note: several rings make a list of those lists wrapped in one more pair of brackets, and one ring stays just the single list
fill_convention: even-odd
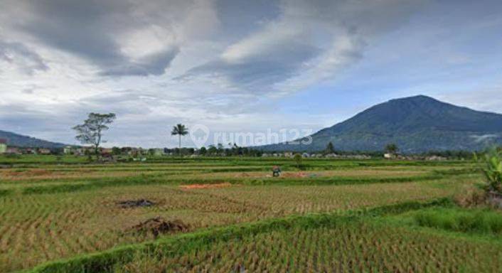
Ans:
[{"label": "rice stubble plot in front of the long diagonal grassy bank", "polygon": [[[181,248],[181,247],[180,247]],[[260,232],[168,255],[139,252],[116,272],[498,272],[502,245],[373,220]],[[160,255],[159,255],[160,254]]]}]

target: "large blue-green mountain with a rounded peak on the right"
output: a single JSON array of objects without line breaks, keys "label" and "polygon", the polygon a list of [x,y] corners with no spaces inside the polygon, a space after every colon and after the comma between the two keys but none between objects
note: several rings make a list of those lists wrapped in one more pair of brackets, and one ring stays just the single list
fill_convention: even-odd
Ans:
[{"label": "large blue-green mountain with a rounded peak on the right", "polygon": [[475,151],[502,144],[502,114],[479,112],[423,95],[375,105],[311,135],[310,145],[272,144],[264,151],[381,151],[395,143],[402,153]]}]

